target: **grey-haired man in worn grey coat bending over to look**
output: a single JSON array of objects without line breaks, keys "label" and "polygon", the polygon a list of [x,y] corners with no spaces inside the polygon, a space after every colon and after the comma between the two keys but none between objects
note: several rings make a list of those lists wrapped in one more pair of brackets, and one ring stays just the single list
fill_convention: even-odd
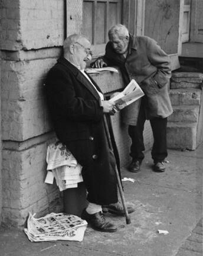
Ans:
[{"label": "grey-haired man in worn grey coat bending over to look", "polygon": [[146,36],[132,36],[124,25],[114,25],[109,30],[106,53],[93,63],[93,67],[119,66],[125,85],[135,79],[145,96],[123,111],[123,121],[129,124],[132,139],[129,171],[138,172],[144,158],[143,129],[149,119],[153,132],[152,159],[155,171],[165,171],[167,153],[167,117],[172,114],[169,99],[171,66],[169,57],[156,43]]}]

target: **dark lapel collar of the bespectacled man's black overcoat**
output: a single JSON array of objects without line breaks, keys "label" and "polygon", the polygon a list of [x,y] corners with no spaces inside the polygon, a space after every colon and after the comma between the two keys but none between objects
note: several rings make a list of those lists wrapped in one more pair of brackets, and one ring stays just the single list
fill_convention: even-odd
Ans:
[{"label": "dark lapel collar of the bespectacled man's black overcoat", "polygon": [[[79,71],[78,68],[76,68],[76,66],[74,66],[73,64],[71,64],[66,58],[64,57],[60,57],[60,59],[57,60],[58,63],[61,63],[61,65],[66,66],[67,69],[69,69],[74,76],[76,76],[76,79],[78,81],[81,82],[81,84],[84,85],[84,87],[86,87],[87,89],[89,89],[89,91],[91,92],[91,94],[94,95],[94,97],[97,100],[100,100],[100,96],[98,94],[98,92],[96,91],[96,89],[94,89],[94,87],[91,85],[90,81]],[[94,84],[94,86],[98,89],[98,91],[101,92],[100,88],[97,86],[97,84],[93,81],[93,79],[91,79],[91,77],[89,76],[91,82]]]}]

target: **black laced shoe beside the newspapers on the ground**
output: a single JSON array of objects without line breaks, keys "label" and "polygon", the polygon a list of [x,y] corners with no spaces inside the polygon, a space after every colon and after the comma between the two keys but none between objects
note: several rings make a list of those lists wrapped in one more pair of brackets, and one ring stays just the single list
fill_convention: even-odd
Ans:
[{"label": "black laced shoe beside the newspapers on the ground", "polygon": [[96,229],[97,231],[101,232],[116,232],[117,228],[112,223],[107,222],[104,219],[104,215],[102,212],[94,213],[90,215],[86,212],[86,209],[83,210],[81,214],[81,219],[87,221],[90,224],[91,228]]}]

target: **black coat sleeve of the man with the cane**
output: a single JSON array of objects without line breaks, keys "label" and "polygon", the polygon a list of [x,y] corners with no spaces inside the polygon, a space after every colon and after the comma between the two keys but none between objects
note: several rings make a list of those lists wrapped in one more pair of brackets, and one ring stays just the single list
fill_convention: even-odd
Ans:
[{"label": "black coat sleeve of the man with the cane", "polygon": [[[48,73],[45,87],[48,108],[54,121],[58,119],[99,121],[102,119],[103,108],[100,107],[99,101],[93,97],[83,97],[81,88],[76,92],[77,86],[71,75],[61,69],[54,68]],[[88,95],[88,92],[86,93]]]}]

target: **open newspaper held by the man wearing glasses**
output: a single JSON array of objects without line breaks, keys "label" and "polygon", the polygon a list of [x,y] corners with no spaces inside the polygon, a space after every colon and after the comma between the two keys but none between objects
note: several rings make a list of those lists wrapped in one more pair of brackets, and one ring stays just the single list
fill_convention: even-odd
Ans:
[{"label": "open newspaper held by the man wearing glasses", "polygon": [[114,111],[117,112],[125,108],[127,105],[130,105],[134,101],[138,100],[143,95],[145,94],[139,87],[139,84],[137,84],[137,82],[132,79],[122,92],[119,92],[119,94],[111,98],[109,101],[112,103],[116,103]]}]

